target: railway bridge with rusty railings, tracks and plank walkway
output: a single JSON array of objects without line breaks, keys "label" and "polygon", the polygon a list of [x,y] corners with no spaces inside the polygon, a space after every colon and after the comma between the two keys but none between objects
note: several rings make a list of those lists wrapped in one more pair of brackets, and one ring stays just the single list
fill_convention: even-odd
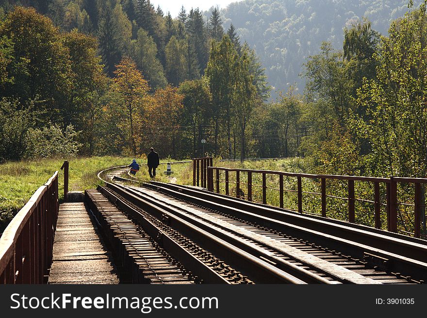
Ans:
[{"label": "railway bridge with rusty railings, tracks and plank walkway", "polygon": [[[1,284],[423,284],[427,279],[421,199],[427,179],[227,169],[200,158],[193,159],[193,185],[141,183],[122,166],[101,171],[97,189],[72,193],[67,162],[63,168],[64,203],[58,201],[56,172],[1,236]],[[286,189],[289,178],[295,189]],[[269,185],[273,179],[277,188]],[[303,180],[319,183],[320,190],[305,189]],[[333,182],[345,183],[345,197],[327,193]],[[372,185],[372,199],[358,197],[356,182]],[[398,201],[399,183],[412,185],[413,203]],[[269,197],[274,191],[275,202]],[[295,208],[287,207],[289,193]],[[316,195],[318,213],[306,211],[305,200]],[[330,217],[332,199],[346,202],[344,220]],[[358,202],[372,204],[375,226],[357,222]],[[402,227],[399,204],[413,208],[411,226]]]}]

